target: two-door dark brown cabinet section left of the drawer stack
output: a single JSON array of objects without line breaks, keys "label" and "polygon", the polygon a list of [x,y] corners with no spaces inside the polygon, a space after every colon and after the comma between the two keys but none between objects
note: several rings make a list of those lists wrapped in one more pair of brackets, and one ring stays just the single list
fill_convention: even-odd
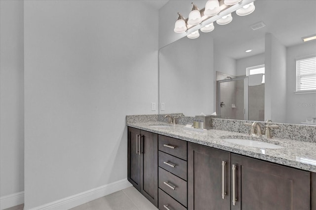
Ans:
[{"label": "two-door dark brown cabinet section left of the drawer stack", "polygon": [[158,207],[158,135],[128,127],[127,179]]}]

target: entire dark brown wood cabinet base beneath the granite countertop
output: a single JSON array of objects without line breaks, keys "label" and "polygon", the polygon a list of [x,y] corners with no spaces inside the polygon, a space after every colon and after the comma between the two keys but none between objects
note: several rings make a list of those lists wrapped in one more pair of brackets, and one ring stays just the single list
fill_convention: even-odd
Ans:
[{"label": "entire dark brown wood cabinet base beneath the granite countertop", "polygon": [[131,127],[127,167],[161,210],[316,210],[316,173]]}]

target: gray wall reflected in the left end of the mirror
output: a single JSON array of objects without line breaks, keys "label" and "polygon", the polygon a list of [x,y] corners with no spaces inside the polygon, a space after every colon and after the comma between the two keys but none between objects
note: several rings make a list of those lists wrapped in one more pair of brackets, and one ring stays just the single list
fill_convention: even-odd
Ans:
[{"label": "gray wall reflected in the left end of the mirror", "polygon": [[213,113],[213,72],[213,38],[208,35],[184,37],[160,49],[159,95],[165,103],[160,113]]}]

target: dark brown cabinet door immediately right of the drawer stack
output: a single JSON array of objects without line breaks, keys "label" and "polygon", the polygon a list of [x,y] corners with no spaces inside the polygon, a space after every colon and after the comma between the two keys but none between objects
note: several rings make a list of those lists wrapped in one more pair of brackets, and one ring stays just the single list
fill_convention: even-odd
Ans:
[{"label": "dark brown cabinet door immediately right of the drawer stack", "polygon": [[230,186],[230,153],[189,142],[188,209],[230,210]]}]

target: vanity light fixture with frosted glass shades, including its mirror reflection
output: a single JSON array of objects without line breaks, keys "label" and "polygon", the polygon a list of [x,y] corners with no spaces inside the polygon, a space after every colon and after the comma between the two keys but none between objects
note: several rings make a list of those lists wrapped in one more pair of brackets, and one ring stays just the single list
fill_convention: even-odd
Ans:
[{"label": "vanity light fixture with frosted glass shades, including its mirror reflection", "polygon": [[244,16],[255,10],[255,0],[207,0],[205,8],[199,10],[192,2],[193,8],[188,19],[178,13],[178,20],[174,24],[175,33],[186,33],[188,38],[197,38],[198,29],[201,32],[214,30],[214,22],[218,25],[226,25],[232,22],[232,12]]}]

